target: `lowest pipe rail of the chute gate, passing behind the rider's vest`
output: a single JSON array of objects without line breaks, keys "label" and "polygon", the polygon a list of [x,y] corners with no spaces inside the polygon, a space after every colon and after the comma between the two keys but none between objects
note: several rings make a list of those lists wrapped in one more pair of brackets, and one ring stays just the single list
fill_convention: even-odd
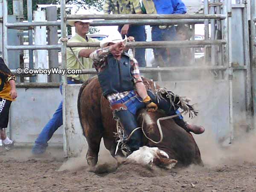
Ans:
[{"label": "lowest pipe rail of the chute gate, passing behind the rider's vest", "polygon": [[[227,70],[224,66],[209,67],[140,67],[140,73],[152,72],[180,72],[180,71]],[[82,74],[97,74],[95,69],[82,69]]]}]

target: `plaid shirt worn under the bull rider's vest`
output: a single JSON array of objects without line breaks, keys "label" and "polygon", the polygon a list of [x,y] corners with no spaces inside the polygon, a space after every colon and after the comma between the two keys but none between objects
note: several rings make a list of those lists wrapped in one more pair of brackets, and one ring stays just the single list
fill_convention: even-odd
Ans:
[{"label": "plaid shirt worn under the bull rider's vest", "polygon": [[[107,65],[106,57],[110,54],[110,47],[105,47],[103,49],[97,49],[96,51],[90,54],[90,58],[93,60],[93,66],[95,67],[97,73],[100,73],[102,69]],[[140,70],[138,63],[135,58],[130,57],[130,65],[131,65],[131,76],[133,77],[134,84],[137,82],[142,82],[140,77]],[[133,90],[132,90],[133,91]],[[127,96],[131,91],[125,91],[122,93],[111,93],[107,96],[110,103],[116,102],[119,99]]]}]

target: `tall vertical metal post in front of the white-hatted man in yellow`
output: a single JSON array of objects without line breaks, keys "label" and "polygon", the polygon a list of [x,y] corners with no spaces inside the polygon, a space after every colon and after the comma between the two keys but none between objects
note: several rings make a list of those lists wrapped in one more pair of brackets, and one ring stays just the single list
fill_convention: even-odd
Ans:
[{"label": "tall vertical metal post in front of the white-hatted man in yellow", "polygon": [[[66,8],[65,8],[65,0],[61,0],[61,38],[66,39]],[[62,69],[65,69],[67,66],[67,41],[63,41],[61,45],[61,67]],[[63,82],[62,86],[62,116],[63,116],[63,127],[64,127],[64,132],[63,132],[63,149],[65,152],[65,156],[67,157],[67,146],[69,145],[69,141],[67,140],[66,137],[66,88],[67,88],[67,78],[66,74],[61,77],[61,80]]]}]

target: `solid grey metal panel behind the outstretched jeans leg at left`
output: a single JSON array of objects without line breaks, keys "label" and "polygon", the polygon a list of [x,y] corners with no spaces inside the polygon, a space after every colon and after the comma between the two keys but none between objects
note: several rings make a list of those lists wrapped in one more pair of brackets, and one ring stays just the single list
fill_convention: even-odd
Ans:
[{"label": "solid grey metal panel behind the outstretched jeans leg at left", "polygon": [[[32,145],[44,125],[52,118],[61,102],[58,87],[19,88],[18,97],[10,109],[10,136],[17,145]],[[54,133],[50,145],[62,145],[62,126]]]}]

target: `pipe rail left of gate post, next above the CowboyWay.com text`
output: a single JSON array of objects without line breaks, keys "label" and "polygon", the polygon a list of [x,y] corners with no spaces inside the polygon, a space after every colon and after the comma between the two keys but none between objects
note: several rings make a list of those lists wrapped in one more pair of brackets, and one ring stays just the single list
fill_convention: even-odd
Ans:
[{"label": "pipe rail left of gate post, next above the CowboyWay.com text", "polygon": [[9,45],[7,50],[61,49],[61,45]]}]

